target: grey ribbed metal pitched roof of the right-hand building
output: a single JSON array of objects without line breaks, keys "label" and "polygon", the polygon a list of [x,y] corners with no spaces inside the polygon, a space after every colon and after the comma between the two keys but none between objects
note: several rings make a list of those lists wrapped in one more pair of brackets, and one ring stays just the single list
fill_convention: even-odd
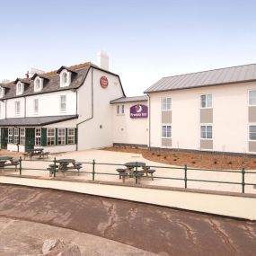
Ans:
[{"label": "grey ribbed metal pitched roof of the right-hand building", "polygon": [[163,77],[144,93],[190,89],[195,87],[234,84],[256,80],[256,64],[231,66],[214,70]]}]

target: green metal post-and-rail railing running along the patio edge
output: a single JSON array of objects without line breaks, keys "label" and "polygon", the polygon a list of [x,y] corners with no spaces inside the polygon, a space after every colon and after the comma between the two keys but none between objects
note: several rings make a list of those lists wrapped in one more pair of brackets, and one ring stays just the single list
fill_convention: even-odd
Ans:
[{"label": "green metal post-and-rail railing running along the patio edge", "polygon": [[[45,162],[45,163],[53,163],[54,167],[52,168],[46,168],[46,169],[42,169],[42,168],[29,168],[29,167],[23,167],[23,162]],[[119,173],[111,173],[111,172],[96,172],[96,167],[100,166],[100,165],[105,165],[105,166],[125,166],[124,163],[96,163],[96,161],[93,159],[92,162],[80,162],[83,164],[87,164],[87,165],[92,165],[91,168],[89,167],[89,172],[88,171],[84,171],[83,169],[81,169],[80,171],[77,171],[78,174],[79,173],[88,173],[88,174],[92,174],[92,180],[95,181],[95,178],[97,175],[110,175],[110,176],[119,176]],[[238,170],[217,170],[217,169],[200,169],[200,168],[190,168],[188,167],[186,164],[183,167],[176,167],[176,166],[156,166],[156,165],[146,165],[147,167],[149,167],[150,169],[152,168],[157,168],[157,169],[168,169],[172,172],[175,171],[180,171],[180,172],[176,172],[175,174],[179,173],[181,174],[181,178],[177,178],[177,177],[164,177],[164,176],[156,176],[154,175],[154,179],[162,179],[162,180],[172,180],[172,181],[183,181],[184,182],[184,188],[187,189],[188,188],[188,183],[191,182],[204,182],[204,183],[220,183],[220,184],[233,184],[233,185],[239,185],[241,186],[242,189],[242,193],[244,193],[245,191],[245,187],[246,186],[256,186],[256,183],[252,183],[252,182],[246,182],[246,174],[256,174],[256,171],[245,171],[244,168],[241,169],[241,171]],[[141,167],[138,164],[134,165],[135,168],[135,172],[132,175],[129,175],[129,177],[134,177],[135,178],[135,182],[136,184],[138,183],[138,179],[141,177],[139,175],[138,172],[138,168]],[[22,160],[22,157],[20,157],[19,159],[19,163],[18,166],[15,167],[0,167],[0,169],[6,169],[6,170],[14,170],[16,169],[16,171],[19,171],[19,175],[22,176],[22,171],[23,170],[32,170],[32,171],[50,171],[53,172],[53,177],[56,177],[56,173],[58,171],[60,172],[76,172],[75,169],[74,170],[58,170],[57,169],[57,159],[54,158],[53,160]],[[92,171],[91,171],[92,170]],[[115,171],[115,169],[113,169],[113,171]],[[241,181],[214,181],[214,180],[199,180],[199,179],[192,179],[189,178],[190,175],[190,171],[194,171],[194,172],[226,172],[226,173],[240,173],[241,174]],[[158,170],[158,172],[161,172]],[[183,172],[183,175],[182,175]],[[143,178],[146,179],[151,179],[151,176],[143,176]],[[255,175],[255,180],[256,180],[256,175]]]}]

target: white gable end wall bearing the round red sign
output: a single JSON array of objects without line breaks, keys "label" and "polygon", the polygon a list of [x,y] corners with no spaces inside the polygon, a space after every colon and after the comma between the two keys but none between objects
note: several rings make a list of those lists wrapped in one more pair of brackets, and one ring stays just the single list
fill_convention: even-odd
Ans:
[{"label": "white gable end wall bearing the round red sign", "polygon": [[[92,72],[93,72],[93,119],[92,117]],[[109,86],[102,88],[100,79],[106,76]],[[79,122],[89,119],[79,125],[78,150],[111,146],[112,136],[112,106],[110,101],[123,96],[119,77],[97,69],[91,69],[84,85],[78,90]],[[102,126],[102,128],[100,128]]]}]

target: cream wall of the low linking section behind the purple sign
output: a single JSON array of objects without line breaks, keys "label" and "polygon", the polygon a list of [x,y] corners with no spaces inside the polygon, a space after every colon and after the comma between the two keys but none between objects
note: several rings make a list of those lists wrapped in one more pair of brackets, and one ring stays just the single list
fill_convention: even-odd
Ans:
[{"label": "cream wall of the low linking section behind the purple sign", "polygon": [[[113,142],[122,144],[148,144],[148,118],[147,119],[131,119],[129,117],[129,109],[131,106],[143,104],[147,106],[147,102],[129,102],[117,103],[112,105],[113,115]],[[124,105],[125,113],[117,114],[117,106]]]}]

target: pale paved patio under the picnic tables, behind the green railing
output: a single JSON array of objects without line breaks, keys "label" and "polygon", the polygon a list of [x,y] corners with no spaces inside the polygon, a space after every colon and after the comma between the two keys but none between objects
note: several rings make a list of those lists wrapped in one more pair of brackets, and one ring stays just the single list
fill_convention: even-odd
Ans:
[{"label": "pale paved patio under the picnic tables, behind the green railing", "polygon": [[[131,153],[120,153],[120,152],[110,152],[103,150],[86,150],[86,151],[78,151],[78,152],[70,152],[63,154],[50,155],[47,161],[52,161],[53,157],[57,157],[57,159],[61,158],[74,158],[79,162],[93,162],[93,159],[96,163],[127,163],[127,162],[145,162],[147,165],[153,166],[163,166],[169,167],[171,169],[165,168],[154,168],[155,176],[159,177],[169,177],[169,178],[184,178],[183,169],[175,169],[175,166],[163,164],[163,163],[155,163],[152,161],[148,161],[142,157],[141,154],[131,154]],[[37,160],[33,158],[33,160]],[[44,177],[47,179],[51,179],[49,177],[49,172],[46,171],[36,171],[36,170],[26,170],[26,168],[32,169],[46,169],[49,166],[48,162],[34,162],[34,161],[23,161],[22,162],[22,175],[31,175]],[[110,174],[118,174],[116,169],[122,167],[118,165],[105,165],[105,164],[96,164],[95,172],[104,172]],[[83,172],[92,172],[93,165],[92,164],[83,164]],[[10,172],[12,174],[19,175],[18,172],[13,172],[10,170],[5,170],[4,172]],[[62,173],[57,173],[59,176],[63,176]],[[91,173],[80,173],[78,176],[77,173],[68,172],[66,173],[66,177],[73,178],[77,180],[92,180]],[[242,174],[241,173],[231,173],[231,172],[199,172],[188,170],[188,179],[196,179],[196,180],[209,180],[209,181],[232,181],[232,182],[242,182]],[[116,181],[121,182],[119,180],[118,175],[106,175],[106,174],[95,174],[96,181]],[[256,172],[255,174],[247,173],[245,174],[245,182],[256,183]],[[135,183],[134,178],[128,178],[126,183]],[[170,186],[170,187],[178,187],[184,188],[184,181],[173,181],[168,179],[158,179],[154,178],[154,181],[148,178],[142,178],[141,183],[148,185],[157,185],[157,186]],[[221,184],[214,182],[199,182],[199,181],[188,181],[188,188],[190,189],[201,189],[201,190],[219,190],[219,191],[232,191],[232,192],[241,192],[242,185],[236,184]],[[245,186],[245,192],[247,193],[256,193],[256,189],[253,186]]]}]

